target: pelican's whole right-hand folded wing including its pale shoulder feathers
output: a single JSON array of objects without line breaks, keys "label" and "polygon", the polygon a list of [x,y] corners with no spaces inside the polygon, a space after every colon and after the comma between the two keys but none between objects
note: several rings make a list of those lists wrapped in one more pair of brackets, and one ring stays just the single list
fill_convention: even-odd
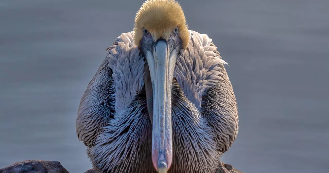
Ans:
[{"label": "pelican's whole right-hand folded wing including its pale shoulder feathers", "polygon": [[238,134],[238,109],[217,47],[206,34],[190,31],[187,49],[177,57],[174,77],[186,97],[208,120],[218,150],[225,152]]}]

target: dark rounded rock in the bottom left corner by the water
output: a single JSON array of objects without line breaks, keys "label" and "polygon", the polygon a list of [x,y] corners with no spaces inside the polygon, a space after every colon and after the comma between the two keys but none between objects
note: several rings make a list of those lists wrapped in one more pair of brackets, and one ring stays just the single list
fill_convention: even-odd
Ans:
[{"label": "dark rounded rock in the bottom left corner by the water", "polygon": [[60,162],[25,160],[1,168],[0,173],[69,173]]}]

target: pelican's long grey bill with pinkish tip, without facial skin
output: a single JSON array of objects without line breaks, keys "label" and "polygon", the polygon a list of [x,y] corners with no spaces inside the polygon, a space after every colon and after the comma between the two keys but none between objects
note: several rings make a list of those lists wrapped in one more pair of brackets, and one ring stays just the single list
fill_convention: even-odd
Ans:
[{"label": "pelican's long grey bill with pinkish tip, without facial skin", "polygon": [[159,173],[165,173],[172,162],[171,85],[176,54],[159,39],[146,60],[153,89],[152,161]]}]

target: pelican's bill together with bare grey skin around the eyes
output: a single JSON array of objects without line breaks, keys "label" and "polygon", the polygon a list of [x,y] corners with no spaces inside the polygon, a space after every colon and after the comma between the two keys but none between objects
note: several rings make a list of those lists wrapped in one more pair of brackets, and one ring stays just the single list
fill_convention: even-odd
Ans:
[{"label": "pelican's bill together with bare grey skin around the eyes", "polygon": [[178,27],[167,40],[154,40],[152,35],[143,28],[139,46],[147,61],[144,81],[152,123],[152,161],[159,173],[165,173],[172,162],[171,85],[182,40]]}]

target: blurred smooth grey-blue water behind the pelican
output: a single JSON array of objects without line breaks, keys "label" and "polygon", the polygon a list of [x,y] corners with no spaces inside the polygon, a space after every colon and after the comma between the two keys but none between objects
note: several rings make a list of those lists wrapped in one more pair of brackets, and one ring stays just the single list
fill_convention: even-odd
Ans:
[{"label": "blurred smooth grey-blue water behind the pelican", "polygon": [[[75,133],[79,102],[143,1],[0,1],[0,168],[91,168]],[[229,64],[240,126],[222,160],[245,173],[328,172],[329,1],[179,2]]]}]

